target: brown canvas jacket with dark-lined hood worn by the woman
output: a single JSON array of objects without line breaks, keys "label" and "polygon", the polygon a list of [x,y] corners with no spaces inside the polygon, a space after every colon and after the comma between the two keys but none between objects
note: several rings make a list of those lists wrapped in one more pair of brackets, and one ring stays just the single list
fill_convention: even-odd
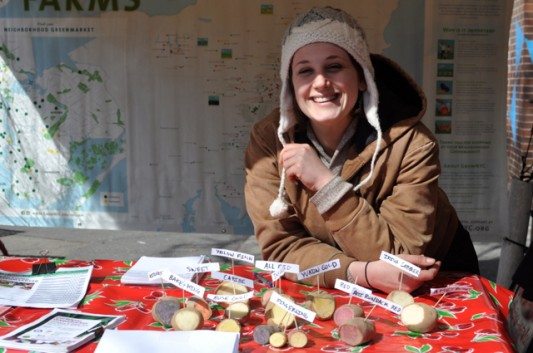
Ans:
[{"label": "brown canvas jacket with dark-lined hood worn by the woman", "polygon": [[[420,121],[426,109],[424,94],[389,59],[372,55],[372,62],[383,142],[373,177],[359,191],[349,191],[321,215],[309,200],[313,193],[288,181],[291,214],[274,219],[269,206],[277,196],[282,170],[278,110],[254,126],[245,153],[246,207],[263,258],[299,264],[301,271],[339,259],[338,270],[320,276],[327,287],[333,287],[336,278],[346,278],[350,262],[377,260],[381,250],[442,259],[458,227],[455,210],[438,186],[437,140]],[[287,138],[309,143],[302,130],[296,125]],[[356,185],[368,175],[374,140],[375,130],[359,119],[340,174],[344,180]]]}]

